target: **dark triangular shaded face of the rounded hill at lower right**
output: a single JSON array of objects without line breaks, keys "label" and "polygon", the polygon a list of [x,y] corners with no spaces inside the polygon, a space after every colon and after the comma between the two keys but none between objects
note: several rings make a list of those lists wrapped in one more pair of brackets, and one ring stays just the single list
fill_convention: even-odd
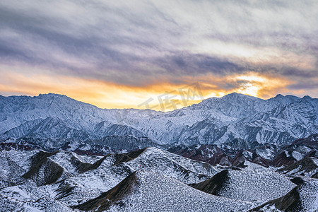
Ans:
[{"label": "dark triangular shaded face of the rounded hill at lower right", "polygon": [[189,184],[189,186],[208,194],[218,195],[218,191],[222,189],[227,179],[228,170],[223,170],[222,172],[218,172],[218,174],[214,175],[210,179],[206,179],[204,182]]}]

